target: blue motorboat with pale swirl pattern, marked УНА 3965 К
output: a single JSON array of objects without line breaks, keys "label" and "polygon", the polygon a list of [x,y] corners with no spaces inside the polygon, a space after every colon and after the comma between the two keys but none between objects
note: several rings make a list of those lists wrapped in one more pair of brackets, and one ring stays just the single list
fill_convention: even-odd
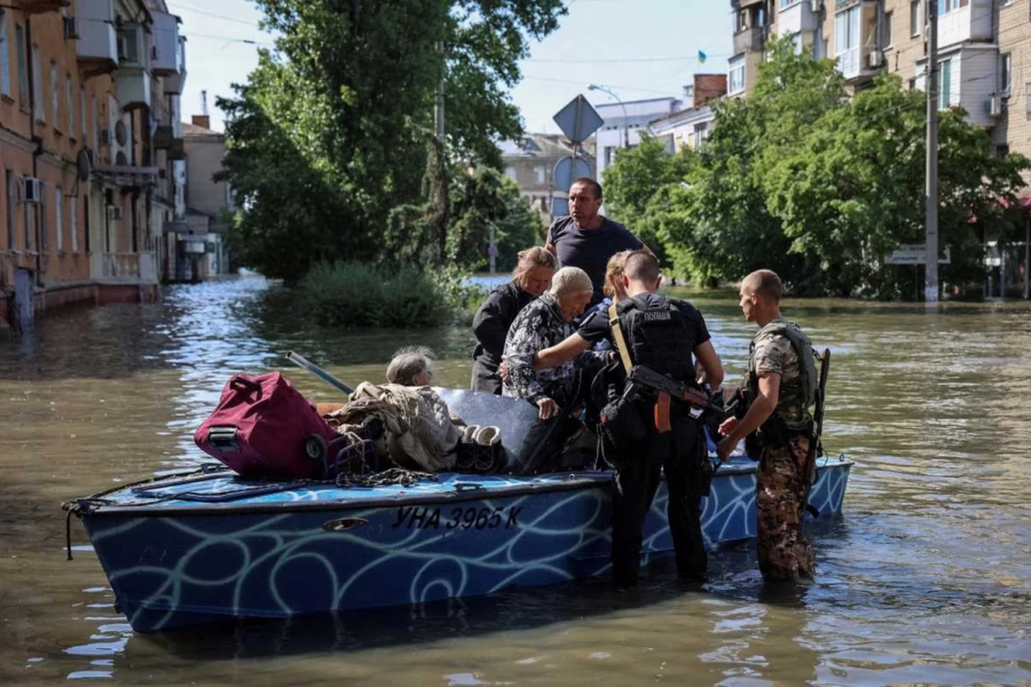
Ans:
[{"label": "blue motorboat with pale swirl pattern, marked \u0423\u041d\u0410 3965 \u041a", "polygon": [[[439,389],[470,422],[534,435],[522,401]],[[523,431],[520,433],[520,431]],[[517,443],[517,442],[509,442]],[[755,461],[720,467],[703,500],[707,544],[755,537]],[[822,457],[809,502],[840,513],[852,462]],[[374,487],[172,475],[79,499],[81,516],[133,629],[229,617],[420,604],[545,585],[609,570],[610,471],[528,477],[441,474]],[[665,485],[641,564],[672,555]]]}]

